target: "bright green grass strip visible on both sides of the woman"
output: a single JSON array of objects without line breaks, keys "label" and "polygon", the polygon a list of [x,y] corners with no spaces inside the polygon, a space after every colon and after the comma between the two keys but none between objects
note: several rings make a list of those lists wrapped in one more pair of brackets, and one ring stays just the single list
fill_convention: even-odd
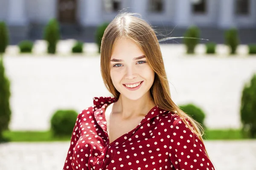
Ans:
[{"label": "bright green grass strip visible on both sides of the woman", "polygon": [[[244,137],[240,129],[207,129],[205,140],[241,140]],[[5,131],[3,137],[9,142],[57,142],[70,141],[70,136],[53,137],[51,131]]]}]

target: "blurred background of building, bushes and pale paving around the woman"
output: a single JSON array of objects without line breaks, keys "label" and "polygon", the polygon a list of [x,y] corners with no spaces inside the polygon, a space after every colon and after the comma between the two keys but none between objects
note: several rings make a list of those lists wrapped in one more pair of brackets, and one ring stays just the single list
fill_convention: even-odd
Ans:
[{"label": "blurred background of building, bushes and pale paving around the woman", "polygon": [[256,170],[256,0],[0,0],[0,170],[64,166],[77,114],[111,96],[99,47],[120,11],[198,38],[160,42],[172,100],[217,170]]}]

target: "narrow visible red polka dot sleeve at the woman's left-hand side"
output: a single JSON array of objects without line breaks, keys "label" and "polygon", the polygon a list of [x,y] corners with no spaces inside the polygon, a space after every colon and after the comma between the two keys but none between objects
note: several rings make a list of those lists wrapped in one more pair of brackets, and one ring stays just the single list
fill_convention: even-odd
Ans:
[{"label": "narrow visible red polka dot sleeve at the woman's left-hand side", "polygon": [[[81,113],[80,113],[81,114]],[[79,122],[80,122],[80,114],[77,116],[76,119],[76,124],[73,128],[72,136],[71,136],[71,141],[70,141],[70,147],[67,153],[67,157],[65,160],[65,164],[63,167],[63,170],[72,170],[72,159],[73,159],[73,152],[76,146],[76,142],[78,141],[80,137],[80,130],[79,130]]]}]

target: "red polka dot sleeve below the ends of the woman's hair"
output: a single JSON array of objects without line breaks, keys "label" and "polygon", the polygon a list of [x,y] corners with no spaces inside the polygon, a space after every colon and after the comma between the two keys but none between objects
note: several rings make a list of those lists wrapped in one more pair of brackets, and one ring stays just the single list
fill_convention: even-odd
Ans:
[{"label": "red polka dot sleeve below the ends of the woman's hair", "polygon": [[[192,127],[190,122],[189,125]],[[170,128],[172,133],[170,135],[169,157],[175,170],[191,168],[193,170],[215,170],[207,157],[204,143],[182,119],[175,118],[174,124]]]}]

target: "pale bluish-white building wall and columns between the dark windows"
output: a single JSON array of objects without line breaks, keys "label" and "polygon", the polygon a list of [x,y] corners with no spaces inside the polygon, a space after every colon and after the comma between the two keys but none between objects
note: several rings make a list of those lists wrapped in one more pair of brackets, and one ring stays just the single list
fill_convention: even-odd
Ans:
[{"label": "pale bluish-white building wall and columns between the dark windows", "polygon": [[[97,26],[98,24],[110,22],[118,12],[108,13],[104,10],[102,0],[77,0],[77,19],[83,26]],[[162,13],[151,13],[148,11],[148,0],[122,0],[122,8],[126,11],[142,14],[153,25],[174,25],[189,26],[229,26],[234,23],[237,27],[256,27],[256,0],[250,1],[250,14],[248,16],[238,16],[230,8],[222,6],[222,0],[207,0],[207,14],[192,14],[189,6],[177,2],[180,0],[164,0],[164,11]],[[234,0],[230,0],[234,1]],[[184,1],[186,2],[186,0]],[[45,24],[51,18],[58,17],[58,0],[25,0],[25,13],[28,23]],[[8,20],[8,0],[0,0],[0,20]],[[229,15],[232,21],[227,23]],[[188,13],[188,14],[186,14]]]}]

